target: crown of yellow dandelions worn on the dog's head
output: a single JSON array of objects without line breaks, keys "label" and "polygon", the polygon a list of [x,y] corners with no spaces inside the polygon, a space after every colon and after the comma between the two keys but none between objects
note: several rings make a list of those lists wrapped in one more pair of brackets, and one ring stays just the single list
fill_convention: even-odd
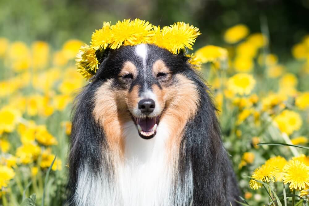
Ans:
[{"label": "crown of yellow dandelions worn on the dog's head", "polygon": [[[200,34],[198,28],[184,22],[162,29],[140,19],[124,19],[114,25],[104,22],[101,29],[92,33],[90,45],[86,44],[79,49],[76,55],[77,71],[84,78],[90,79],[99,68],[105,49],[118,49],[121,45],[155,44],[172,54],[179,54],[180,51],[185,53],[186,48],[193,49],[195,39]],[[201,61],[193,54],[186,56],[193,66],[200,67]]]}]

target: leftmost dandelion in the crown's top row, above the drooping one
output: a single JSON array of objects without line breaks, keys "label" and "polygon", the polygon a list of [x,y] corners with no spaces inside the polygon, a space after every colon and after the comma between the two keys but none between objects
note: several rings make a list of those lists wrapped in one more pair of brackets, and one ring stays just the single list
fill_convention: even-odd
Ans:
[{"label": "leftmost dandelion in the crown's top row, above the drooping one", "polygon": [[99,30],[95,30],[91,36],[91,47],[95,50],[98,49],[106,49],[108,46],[108,42],[111,39],[111,23],[103,22],[103,27]]}]

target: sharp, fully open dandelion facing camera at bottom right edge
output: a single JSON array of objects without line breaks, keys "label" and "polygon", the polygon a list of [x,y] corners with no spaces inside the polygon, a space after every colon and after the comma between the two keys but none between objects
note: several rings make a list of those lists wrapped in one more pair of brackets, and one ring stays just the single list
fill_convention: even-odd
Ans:
[{"label": "sharp, fully open dandelion facing camera at bottom right edge", "polygon": [[283,182],[290,183],[290,190],[302,190],[309,186],[309,167],[298,160],[292,160],[283,167]]}]

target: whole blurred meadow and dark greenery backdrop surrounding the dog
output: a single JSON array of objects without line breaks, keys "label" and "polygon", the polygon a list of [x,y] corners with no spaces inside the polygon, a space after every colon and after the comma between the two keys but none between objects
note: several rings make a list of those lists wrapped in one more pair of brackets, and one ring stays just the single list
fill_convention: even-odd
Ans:
[{"label": "whole blurred meadow and dark greenery backdrop surrounding the dog", "polygon": [[[0,206],[33,193],[36,205],[66,202],[72,102],[87,84],[74,59],[103,21],[127,18],[200,29],[193,52],[206,63],[242,202],[271,205],[277,194],[283,205],[286,165],[300,161],[306,171],[295,176],[309,174],[309,0],[0,0]],[[308,205],[309,185],[290,183],[287,205],[295,191]]]}]

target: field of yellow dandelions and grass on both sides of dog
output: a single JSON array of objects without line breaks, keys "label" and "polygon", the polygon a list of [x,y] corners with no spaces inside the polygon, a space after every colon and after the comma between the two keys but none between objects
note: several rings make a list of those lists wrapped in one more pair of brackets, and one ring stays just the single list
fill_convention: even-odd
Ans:
[{"label": "field of yellow dandelions and grass on both sides of dog", "polygon": [[[270,43],[238,24],[220,47],[188,55],[203,63],[196,69],[218,108],[240,204],[308,206],[309,35],[286,51],[291,59],[273,54]],[[0,38],[0,205],[32,194],[36,205],[64,204],[72,102],[87,84],[75,66],[82,45]]]}]

